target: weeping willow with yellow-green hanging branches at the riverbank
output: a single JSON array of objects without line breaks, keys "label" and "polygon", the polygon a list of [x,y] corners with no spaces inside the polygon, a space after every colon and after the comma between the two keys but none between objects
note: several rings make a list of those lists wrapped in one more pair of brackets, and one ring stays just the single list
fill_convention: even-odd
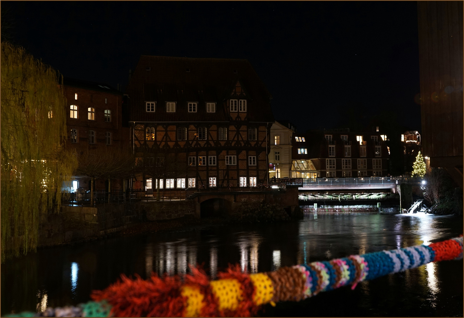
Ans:
[{"label": "weeping willow with yellow-green hanging branches at the riverbank", "polygon": [[65,148],[66,99],[58,73],[1,44],[1,261],[35,250],[39,214],[58,212],[77,166]]}]

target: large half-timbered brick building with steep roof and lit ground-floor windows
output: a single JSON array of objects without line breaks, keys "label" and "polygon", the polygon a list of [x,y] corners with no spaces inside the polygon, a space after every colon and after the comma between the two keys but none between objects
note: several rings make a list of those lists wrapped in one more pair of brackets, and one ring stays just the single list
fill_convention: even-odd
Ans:
[{"label": "large half-timbered brick building with steep roof and lit ground-floor windows", "polygon": [[247,60],[142,56],[126,93],[133,188],[267,181],[271,95]]}]

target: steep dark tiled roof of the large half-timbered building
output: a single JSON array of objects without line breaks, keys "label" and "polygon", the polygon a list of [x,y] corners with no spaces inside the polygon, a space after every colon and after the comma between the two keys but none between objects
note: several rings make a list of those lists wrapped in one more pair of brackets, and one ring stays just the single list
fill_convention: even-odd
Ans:
[{"label": "steep dark tiled roof of the large half-timbered building", "polygon": [[[130,79],[130,121],[137,122],[229,122],[227,99],[240,83],[247,103],[247,120],[273,122],[271,94],[245,59],[175,58],[142,55]],[[145,102],[156,102],[155,112],[145,111]],[[166,102],[176,102],[174,113]],[[197,102],[189,113],[188,102]],[[216,112],[206,112],[206,102],[217,103]]]}]

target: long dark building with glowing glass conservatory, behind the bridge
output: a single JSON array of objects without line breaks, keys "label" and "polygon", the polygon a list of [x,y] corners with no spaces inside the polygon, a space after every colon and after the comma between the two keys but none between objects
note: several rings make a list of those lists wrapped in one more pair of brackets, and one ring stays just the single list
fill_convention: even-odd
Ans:
[{"label": "long dark building with glowing glass conservatory, behind the bridge", "polygon": [[313,131],[293,138],[292,177],[385,176],[389,149],[379,132]]}]

